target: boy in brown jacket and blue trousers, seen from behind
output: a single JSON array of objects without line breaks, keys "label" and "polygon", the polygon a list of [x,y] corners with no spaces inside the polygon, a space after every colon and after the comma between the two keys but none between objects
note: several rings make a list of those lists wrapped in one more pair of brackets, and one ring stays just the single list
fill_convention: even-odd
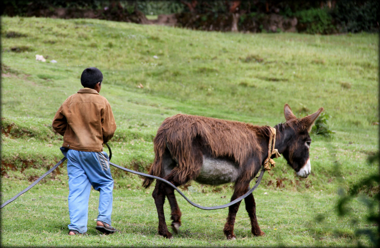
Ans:
[{"label": "boy in brown jacket and blue trousers, seen from behind", "polygon": [[103,152],[103,143],[114,135],[116,123],[107,99],[99,95],[102,81],[99,69],[85,69],[81,76],[84,88],[66,99],[52,123],[63,136],[60,149],[67,158],[69,235],[87,231],[91,185],[100,191],[96,229],[105,234],[117,231],[111,226],[114,181],[108,155]]}]

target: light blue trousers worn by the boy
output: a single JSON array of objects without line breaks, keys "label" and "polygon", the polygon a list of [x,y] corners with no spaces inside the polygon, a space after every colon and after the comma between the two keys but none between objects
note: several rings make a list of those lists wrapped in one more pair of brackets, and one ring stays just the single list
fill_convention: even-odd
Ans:
[{"label": "light blue trousers worn by the boy", "polygon": [[114,180],[109,169],[106,152],[81,152],[67,150],[67,174],[69,176],[70,230],[87,231],[91,185],[100,192],[98,218],[111,225],[112,190]]}]

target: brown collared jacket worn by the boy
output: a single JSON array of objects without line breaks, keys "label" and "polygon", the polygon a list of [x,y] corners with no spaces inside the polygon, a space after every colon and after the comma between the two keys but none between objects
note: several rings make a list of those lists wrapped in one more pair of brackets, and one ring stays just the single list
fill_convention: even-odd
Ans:
[{"label": "brown collared jacket worn by the boy", "polygon": [[84,152],[103,151],[103,143],[116,130],[107,99],[90,88],[69,96],[55,113],[52,126],[63,136],[63,147]]}]

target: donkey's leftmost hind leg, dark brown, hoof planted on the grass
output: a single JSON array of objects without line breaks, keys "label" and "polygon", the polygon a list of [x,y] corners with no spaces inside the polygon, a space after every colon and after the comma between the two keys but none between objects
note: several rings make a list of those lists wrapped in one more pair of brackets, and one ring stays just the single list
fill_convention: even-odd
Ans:
[{"label": "donkey's leftmost hind leg, dark brown, hoof planted on the grass", "polygon": [[165,203],[165,193],[163,189],[163,184],[157,180],[156,186],[154,187],[152,196],[154,198],[154,203],[156,204],[157,214],[158,214],[158,234],[161,236],[171,239],[173,235],[168,231],[168,227],[165,222],[164,214],[164,203]]}]

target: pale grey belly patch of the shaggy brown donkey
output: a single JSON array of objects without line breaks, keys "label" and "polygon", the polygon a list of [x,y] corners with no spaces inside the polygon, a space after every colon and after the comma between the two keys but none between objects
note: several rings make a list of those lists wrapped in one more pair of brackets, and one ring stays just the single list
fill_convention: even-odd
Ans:
[{"label": "pale grey belly patch of the shaggy brown donkey", "polygon": [[240,174],[239,167],[228,160],[203,156],[201,172],[195,181],[203,184],[219,185],[235,182]]}]

